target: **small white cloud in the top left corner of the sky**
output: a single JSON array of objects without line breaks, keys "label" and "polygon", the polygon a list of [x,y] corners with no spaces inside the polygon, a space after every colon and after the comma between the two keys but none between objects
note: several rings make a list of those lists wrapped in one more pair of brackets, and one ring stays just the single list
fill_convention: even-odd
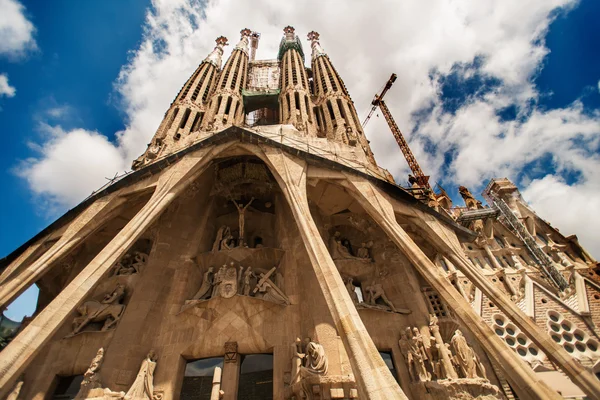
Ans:
[{"label": "small white cloud in the top left corner of the sky", "polygon": [[17,0],[0,0],[0,55],[23,56],[37,45],[35,27],[25,15],[25,7]]}]

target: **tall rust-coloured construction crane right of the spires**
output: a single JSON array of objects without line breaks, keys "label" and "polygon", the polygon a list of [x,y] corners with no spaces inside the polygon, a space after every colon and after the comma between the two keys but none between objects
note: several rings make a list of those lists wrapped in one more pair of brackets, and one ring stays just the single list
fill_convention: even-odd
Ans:
[{"label": "tall rust-coloured construction crane right of the spires", "polygon": [[398,146],[400,146],[400,150],[402,150],[402,154],[404,154],[404,158],[406,158],[406,162],[408,162],[410,170],[412,171],[412,177],[409,178],[409,181],[411,183],[416,183],[417,185],[426,190],[432,190],[431,186],[429,185],[429,176],[425,175],[421,170],[421,167],[419,166],[419,163],[417,162],[417,159],[413,155],[412,151],[410,151],[410,147],[408,147],[408,143],[406,142],[406,139],[404,139],[400,128],[398,128],[396,121],[394,121],[394,117],[392,117],[389,108],[387,108],[387,105],[383,101],[383,96],[385,96],[387,91],[390,90],[392,84],[396,81],[396,78],[397,75],[392,74],[392,76],[390,76],[390,79],[388,79],[387,83],[385,84],[381,93],[376,94],[373,98],[373,101],[371,102],[371,105],[373,107],[371,108],[369,115],[367,115],[367,118],[365,118],[364,122],[362,123],[363,130],[365,128],[365,125],[367,125],[367,122],[369,122],[369,120],[371,119],[371,116],[373,115],[377,107],[379,107],[381,109],[381,112],[383,113],[383,116],[385,117],[386,122],[390,126],[390,130],[392,131],[394,138],[396,138]]}]

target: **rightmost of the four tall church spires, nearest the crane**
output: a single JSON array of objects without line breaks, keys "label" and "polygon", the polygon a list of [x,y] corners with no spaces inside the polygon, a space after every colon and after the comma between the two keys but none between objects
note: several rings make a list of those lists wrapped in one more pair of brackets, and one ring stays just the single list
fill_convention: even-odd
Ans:
[{"label": "rightmost of the four tall church spires, nearest the crane", "polygon": [[344,81],[339,76],[329,56],[319,43],[319,34],[308,34],[312,47],[312,71],[317,125],[329,140],[350,146],[360,146],[371,163],[375,164],[369,141],[364,135],[354,102],[348,94]]}]

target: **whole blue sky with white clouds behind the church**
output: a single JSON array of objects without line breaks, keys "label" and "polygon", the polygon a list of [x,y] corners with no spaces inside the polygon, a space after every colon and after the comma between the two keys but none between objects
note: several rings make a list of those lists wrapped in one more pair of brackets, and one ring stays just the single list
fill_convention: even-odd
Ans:
[{"label": "whole blue sky with white clouds behind the church", "polygon": [[[508,176],[600,256],[598,1],[310,2],[0,0],[0,257],[129,168],[217,36],[248,26],[275,58],[287,24],[321,33],[361,118],[398,73],[388,105],[457,202]],[[403,181],[383,118],[367,135]]]}]

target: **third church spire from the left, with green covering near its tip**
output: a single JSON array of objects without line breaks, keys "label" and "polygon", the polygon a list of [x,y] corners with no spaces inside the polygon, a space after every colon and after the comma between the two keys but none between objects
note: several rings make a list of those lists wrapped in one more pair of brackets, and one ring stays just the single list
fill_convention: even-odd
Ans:
[{"label": "third church spire from the left, with green covering near its tip", "polygon": [[302,44],[293,27],[283,28],[283,34],[278,56],[281,62],[279,119],[282,124],[294,125],[308,136],[317,136]]}]

